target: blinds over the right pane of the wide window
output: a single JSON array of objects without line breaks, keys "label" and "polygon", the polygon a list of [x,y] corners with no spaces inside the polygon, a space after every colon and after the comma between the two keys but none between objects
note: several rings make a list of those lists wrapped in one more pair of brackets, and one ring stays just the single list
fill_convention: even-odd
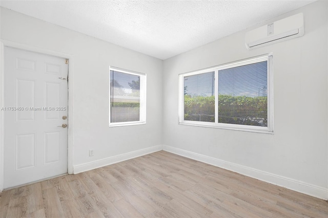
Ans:
[{"label": "blinds over the right pane of the wide window", "polygon": [[218,73],[218,122],[268,126],[268,61]]}]

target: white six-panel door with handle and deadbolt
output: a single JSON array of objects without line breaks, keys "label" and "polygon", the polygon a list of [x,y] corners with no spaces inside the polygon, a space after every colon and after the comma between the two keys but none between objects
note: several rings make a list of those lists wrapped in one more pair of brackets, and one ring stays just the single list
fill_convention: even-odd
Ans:
[{"label": "white six-panel door with handle and deadbolt", "polygon": [[4,188],[66,173],[66,59],[9,47],[4,57]]}]

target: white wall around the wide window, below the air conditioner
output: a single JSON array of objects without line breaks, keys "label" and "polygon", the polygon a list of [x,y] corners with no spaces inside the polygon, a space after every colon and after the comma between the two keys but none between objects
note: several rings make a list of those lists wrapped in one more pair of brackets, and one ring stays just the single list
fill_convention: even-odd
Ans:
[{"label": "white wall around the wide window, below the air conditioner", "polygon": [[[245,30],[164,61],[165,149],[328,199],[327,2],[258,26],[299,12],[304,13],[303,37],[249,51],[244,45]],[[178,74],[270,52],[273,135],[178,125]]]}]

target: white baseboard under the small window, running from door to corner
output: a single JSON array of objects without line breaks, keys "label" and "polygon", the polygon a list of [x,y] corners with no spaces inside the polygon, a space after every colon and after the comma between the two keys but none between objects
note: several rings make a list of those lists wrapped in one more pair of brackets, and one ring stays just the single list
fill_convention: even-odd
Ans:
[{"label": "white baseboard under the small window, running from door to corner", "polygon": [[91,161],[89,163],[73,166],[73,173],[76,174],[76,173],[80,173],[80,172],[85,172],[85,171],[88,171],[91,169],[96,169],[99,167],[107,166],[107,165],[118,163],[121,161],[126,161],[126,160],[129,160],[132,158],[137,158],[137,157],[147,155],[147,154],[150,154],[150,153],[153,153],[156,151],[160,151],[160,150],[162,150],[162,145],[156,145],[153,147],[148,147],[148,148],[144,148],[144,149],[140,149],[140,150],[131,151],[131,152],[128,152],[128,153],[122,154],[122,155],[117,155],[117,156],[113,156],[113,157],[109,157],[109,158]]}]

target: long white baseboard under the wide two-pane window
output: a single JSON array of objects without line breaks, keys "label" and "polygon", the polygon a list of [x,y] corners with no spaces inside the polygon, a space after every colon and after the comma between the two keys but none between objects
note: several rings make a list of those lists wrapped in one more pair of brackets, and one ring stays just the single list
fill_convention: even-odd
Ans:
[{"label": "long white baseboard under the wide two-pane window", "polygon": [[163,145],[163,150],[180,155],[186,158],[191,158],[203,163],[211,164],[223,169],[234,171],[242,175],[268,182],[277,186],[288,188],[300,193],[311,195],[312,197],[328,200],[328,189],[319,187],[302,181],[297,181],[291,178],[275,175],[270,172],[261,171],[251,167],[231,163],[228,161],[219,160],[205,155],[200,155],[195,152],[175,148],[168,145]]}]

